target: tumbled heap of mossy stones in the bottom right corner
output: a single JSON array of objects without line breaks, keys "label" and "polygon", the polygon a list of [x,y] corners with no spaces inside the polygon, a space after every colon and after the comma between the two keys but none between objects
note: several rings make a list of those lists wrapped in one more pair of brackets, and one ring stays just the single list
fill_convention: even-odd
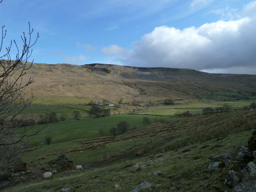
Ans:
[{"label": "tumbled heap of mossy stones in the bottom right corner", "polygon": [[240,146],[232,152],[209,157],[212,164],[208,169],[227,171],[224,186],[213,188],[218,192],[255,192],[256,191],[256,131],[248,139],[248,146]]}]

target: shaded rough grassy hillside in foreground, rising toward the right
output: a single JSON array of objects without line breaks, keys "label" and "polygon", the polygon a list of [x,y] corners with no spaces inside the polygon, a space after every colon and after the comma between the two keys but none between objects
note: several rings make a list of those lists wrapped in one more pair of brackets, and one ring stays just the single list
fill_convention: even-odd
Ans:
[{"label": "shaded rough grassy hillside in foreground, rising toward the right", "polygon": [[[126,137],[124,140],[105,144],[105,148],[98,146],[94,150],[84,150],[82,154],[76,154],[76,158],[80,156],[82,160],[88,158],[87,156],[93,158],[92,155],[103,151],[114,153],[121,149],[132,148],[137,152],[144,150],[140,158],[136,158],[134,153],[128,153],[128,156],[124,153],[120,157],[111,158],[110,163],[107,162],[100,168],[83,172],[74,170],[61,172],[54,176],[53,180],[43,182],[35,180],[3,191],[24,192],[45,191],[45,189],[54,191],[60,188],[70,188],[72,191],[130,191],[144,180],[152,183],[153,186],[141,191],[214,191],[212,185],[223,186],[228,170],[209,170],[207,166],[212,161],[207,157],[217,156],[232,151],[236,146],[246,145],[247,138],[256,126],[255,113],[255,110],[239,111],[185,118],[179,122],[169,119],[165,123],[158,122],[148,127],[141,127],[124,134],[123,136]],[[129,142],[132,135],[134,136],[132,142]],[[223,140],[216,140],[225,135],[227,137]],[[148,140],[152,141],[148,143]],[[204,145],[214,146],[216,144],[223,145],[223,147],[199,149]],[[191,151],[181,153],[181,151],[174,151],[175,149],[190,149]],[[157,154],[159,152],[162,153]],[[28,153],[33,153],[33,151]],[[73,156],[72,153],[68,155]],[[196,154],[201,156],[198,161],[192,158]],[[75,159],[75,164],[82,164],[81,160]],[[124,168],[126,165],[128,165],[127,168]],[[139,166],[141,170],[137,170]],[[156,171],[162,171],[164,174],[152,176],[152,173]],[[96,175],[100,177],[91,179]],[[80,184],[84,185],[75,188]],[[115,184],[120,185],[120,188],[115,189]],[[157,187],[157,184],[162,184],[161,189]]]}]

